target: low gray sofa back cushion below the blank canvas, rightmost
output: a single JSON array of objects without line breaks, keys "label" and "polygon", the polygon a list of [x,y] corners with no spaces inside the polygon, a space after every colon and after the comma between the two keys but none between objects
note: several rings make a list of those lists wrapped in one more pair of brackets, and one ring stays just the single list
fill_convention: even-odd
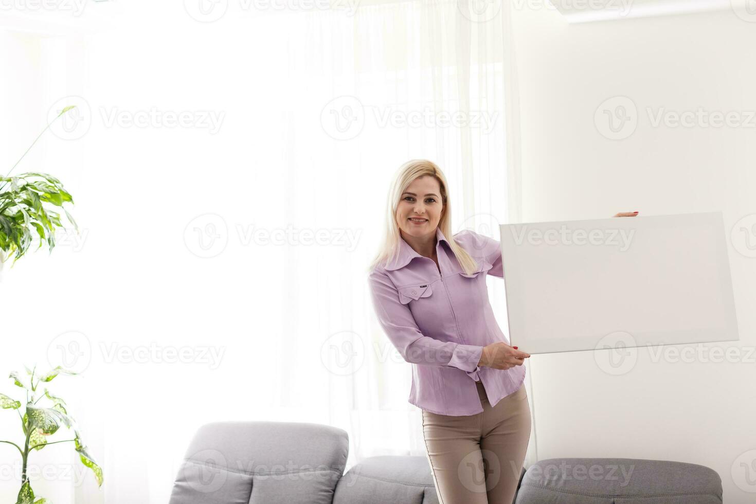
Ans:
[{"label": "low gray sofa back cushion below the blank canvas, rightmost", "polygon": [[516,504],[721,504],[704,465],[643,459],[544,459],[525,472]]}]

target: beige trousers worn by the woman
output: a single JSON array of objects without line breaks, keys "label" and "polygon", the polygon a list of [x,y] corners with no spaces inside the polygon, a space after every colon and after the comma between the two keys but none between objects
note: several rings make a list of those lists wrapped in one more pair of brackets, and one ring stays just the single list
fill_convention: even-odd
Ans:
[{"label": "beige trousers worn by the woman", "polygon": [[440,504],[511,504],[528,450],[531,416],[525,384],[495,407],[476,382],[483,413],[423,410],[423,436]]}]

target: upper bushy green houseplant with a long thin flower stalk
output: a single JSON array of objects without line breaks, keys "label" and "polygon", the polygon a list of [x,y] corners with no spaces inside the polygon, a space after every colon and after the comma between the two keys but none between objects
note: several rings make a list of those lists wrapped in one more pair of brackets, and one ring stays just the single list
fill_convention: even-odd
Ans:
[{"label": "upper bushy green houseplant with a long thin flower stalk", "polygon": [[74,107],[76,106],[65,107],[42,130],[8,174],[0,177],[0,271],[11,255],[14,255],[13,264],[15,264],[18,258],[26,253],[32,243],[33,233],[39,236],[39,247],[42,247],[42,243],[47,243],[52,252],[55,246],[55,227],[65,229],[60,221],[60,212],[56,212],[55,207],[62,209],[70,224],[77,232],[79,231],[76,221],[64,208],[65,203],[73,205],[73,198],[57,178],[39,172],[11,176],[11,172],[36,144],[39,137],[50,128],[53,122]]}]

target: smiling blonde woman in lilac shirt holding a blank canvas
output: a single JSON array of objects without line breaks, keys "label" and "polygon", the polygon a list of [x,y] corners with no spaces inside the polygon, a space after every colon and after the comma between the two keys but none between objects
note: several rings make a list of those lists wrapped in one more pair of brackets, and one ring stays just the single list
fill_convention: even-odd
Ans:
[{"label": "smiling blonde woman in lilac shirt holding a blank canvas", "polygon": [[522,386],[530,354],[507,345],[488,301],[486,275],[503,277],[500,244],[471,230],[452,236],[450,206],[438,166],[401,166],[370,266],[373,306],[413,364],[409,402],[423,410],[441,504],[510,504],[531,432]]}]

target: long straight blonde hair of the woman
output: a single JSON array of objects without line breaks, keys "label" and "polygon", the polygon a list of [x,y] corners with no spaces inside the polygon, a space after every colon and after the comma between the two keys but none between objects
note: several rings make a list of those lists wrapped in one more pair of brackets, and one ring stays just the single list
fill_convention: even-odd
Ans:
[{"label": "long straight blonde hair of the woman", "polygon": [[438,185],[441,187],[441,199],[443,204],[443,212],[441,220],[438,221],[438,227],[441,232],[444,233],[446,240],[448,240],[451,246],[451,251],[457,257],[457,261],[460,263],[463,271],[466,274],[471,274],[476,271],[478,263],[472,258],[469,253],[461,246],[457,244],[454,238],[451,236],[451,198],[448,192],[448,184],[446,183],[446,177],[444,172],[435,165],[434,162],[428,159],[411,159],[405,162],[399,167],[394,176],[394,181],[389,190],[388,198],[386,199],[386,225],[384,226],[383,243],[380,246],[379,252],[373,261],[370,263],[370,271],[377,265],[382,264],[384,261],[390,261],[395,258],[399,253],[399,240],[402,240],[399,233],[399,226],[396,223],[396,209],[399,206],[399,200],[401,194],[407,190],[412,182],[419,177],[429,175],[438,181]]}]

